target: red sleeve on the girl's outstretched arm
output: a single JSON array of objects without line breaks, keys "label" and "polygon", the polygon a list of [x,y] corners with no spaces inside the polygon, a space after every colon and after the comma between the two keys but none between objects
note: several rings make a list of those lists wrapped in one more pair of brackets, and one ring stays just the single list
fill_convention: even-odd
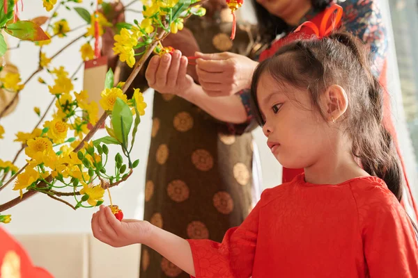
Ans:
[{"label": "red sleeve on the girl's outstretched arm", "polygon": [[240,227],[226,231],[222,243],[187,240],[192,248],[196,278],[250,277],[254,264],[260,204]]}]

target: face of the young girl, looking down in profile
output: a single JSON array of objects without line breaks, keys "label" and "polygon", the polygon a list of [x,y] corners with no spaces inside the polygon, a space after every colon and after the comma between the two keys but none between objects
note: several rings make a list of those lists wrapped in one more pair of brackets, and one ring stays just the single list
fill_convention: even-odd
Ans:
[{"label": "face of the young girl, looking down in profile", "polygon": [[307,90],[277,83],[264,72],[258,81],[257,100],[268,147],[281,165],[310,167],[332,153],[332,130],[314,108]]}]

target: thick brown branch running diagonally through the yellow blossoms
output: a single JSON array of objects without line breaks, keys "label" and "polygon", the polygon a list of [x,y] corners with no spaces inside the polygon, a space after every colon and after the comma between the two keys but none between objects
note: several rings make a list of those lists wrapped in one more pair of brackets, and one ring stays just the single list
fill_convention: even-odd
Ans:
[{"label": "thick brown branch running diagonally through the yellow blossoms", "polygon": [[[148,49],[146,50],[145,54],[143,56],[141,56],[141,58],[138,60],[138,62],[134,65],[134,70],[132,70],[130,76],[127,78],[127,81],[125,82],[125,85],[123,85],[123,93],[126,92],[127,88],[130,87],[130,85],[132,84],[132,82],[134,81],[135,77],[137,76],[137,74],[139,73],[139,71],[141,70],[141,67],[144,65],[144,63],[146,62],[146,60],[148,59],[148,57],[153,53],[153,50],[155,49],[155,46],[158,43],[158,40],[160,40],[160,38],[162,38],[164,36],[165,31],[162,30],[161,33],[158,35],[157,40],[155,40],[152,44],[150,44],[150,46],[148,47]],[[93,138],[93,135],[96,131],[98,131],[99,126],[102,126],[102,124],[104,123],[104,121],[107,118],[107,113],[104,112],[102,114],[102,116],[100,117],[100,119],[98,120],[98,122],[95,124],[95,126],[93,126],[93,128],[91,129],[90,132],[88,132],[88,134],[86,135],[86,137],[84,137],[84,139],[82,140],[82,142],[79,143],[79,145],[74,149],[73,152],[78,152],[80,149],[82,149],[82,147],[84,147],[84,142],[88,142],[89,140],[91,140],[91,138]],[[26,167],[26,166],[25,166]],[[24,167],[21,169],[21,171],[24,170]],[[132,170],[130,172],[130,174],[132,174]],[[130,174],[127,175],[127,177],[130,177]],[[125,179],[127,179],[127,177],[125,177]],[[51,176],[47,177],[47,181],[49,182],[52,179]],[[119,183],[121,183],[122,181],[118,181],[117,183],[112,184],[112,186],[116,186]],[[46,187],[46,184],[44,181],[41,181],[38,184],[38,188],[42,188],[42,187]],[[16,206],[17,204],[20,204],[20,202],[22,202],[25,199],[28,199],[29,197],[33,196],[36,194],[37,191],[35,190],[29,190],[28,192],[24,193],[22,195],[22,198],[17,197],[5,204],[1,204],[0,205],[0,212],[2,211],[6,211],[8,208],[13,208],[13,206]],[[52,192],[52,190],[49,190],[49,192]],[[57,193],[57,192],[56,192]],[[61,193],[60,193],[61,194]],[[63,195],[61,196],[65,196],[65,193],[62,193]],[[71,193],[71,196],[74,195],[74,193]],[[59,196],[59,195],[57,195]]]}]

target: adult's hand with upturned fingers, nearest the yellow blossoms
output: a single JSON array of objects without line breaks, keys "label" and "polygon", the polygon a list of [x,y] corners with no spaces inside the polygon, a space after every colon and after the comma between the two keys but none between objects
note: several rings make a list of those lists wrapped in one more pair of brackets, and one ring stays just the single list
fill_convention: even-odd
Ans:
[{"label": "adult's hand with upturned fingers, nearest the yellow blossoms", "polygon": [[150,88],[179,97],[185,97],[194,85],[192,77],[187,74],[187,58],[178,50],[171,55],[151,58],[145,77]]}]

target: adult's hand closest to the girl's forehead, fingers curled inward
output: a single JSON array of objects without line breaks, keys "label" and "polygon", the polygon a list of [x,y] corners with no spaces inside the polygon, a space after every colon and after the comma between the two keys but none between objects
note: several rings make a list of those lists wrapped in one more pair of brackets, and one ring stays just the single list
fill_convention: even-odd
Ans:
[{"label": "adult's hand closest to the girl's forehead, fingers curled inward", "polygon": [[199,83],[212,97],[234,95],[250,88],[251,79],[258,63],[250,58],[230,52],[201,54],[196,60]]}]

